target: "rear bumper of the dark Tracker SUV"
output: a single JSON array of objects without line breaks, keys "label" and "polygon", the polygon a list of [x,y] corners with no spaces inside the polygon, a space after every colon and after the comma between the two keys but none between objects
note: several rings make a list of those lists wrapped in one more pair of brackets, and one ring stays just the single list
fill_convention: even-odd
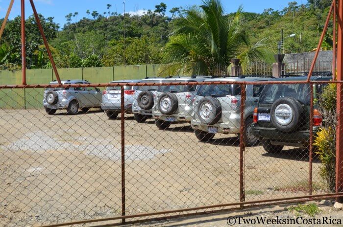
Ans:
[{"label": "rear bumper of the dark Tracker SUV", "polygon": [[[313,136],[317,134],[319,127],[313,127]],[[256,137],[269,139],[276,142],[278,145],[307,147],[310,144],[310,131],[296,131],[284,133],[275,128],[258,127],[255,123],[252,124],[252,134]]]}]

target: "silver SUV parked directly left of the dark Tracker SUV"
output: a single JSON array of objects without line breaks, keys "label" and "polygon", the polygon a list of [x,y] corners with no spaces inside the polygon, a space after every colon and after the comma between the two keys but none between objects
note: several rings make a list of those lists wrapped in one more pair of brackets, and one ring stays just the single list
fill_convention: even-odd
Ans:
[{"label": "silver SUV parked directly left of the dark Tracker SUV", "polygon": [[[205,80],[214,81],[269,81],[271,78],[230,77]],[[251,132],[253,112],[264,85],[247,85],[245,101],[245,143],[252,146],[258,138]],[[192,128],[200,141],[208,141],[215,134],[239,134],[241,127],[241,86],[238,84],[202,85],[193,101]]]}]

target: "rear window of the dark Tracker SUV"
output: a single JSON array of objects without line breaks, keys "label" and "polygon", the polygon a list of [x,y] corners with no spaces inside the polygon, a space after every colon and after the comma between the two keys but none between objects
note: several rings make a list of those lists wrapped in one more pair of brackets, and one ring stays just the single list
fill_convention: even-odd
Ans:
[{"label": "rear window of the dark Tracker SUV", "polygon": [[266,85],[260,103],[272,104],[279,98],[293,97],[303,105],[310,105],[309,84],[272,84]]}]

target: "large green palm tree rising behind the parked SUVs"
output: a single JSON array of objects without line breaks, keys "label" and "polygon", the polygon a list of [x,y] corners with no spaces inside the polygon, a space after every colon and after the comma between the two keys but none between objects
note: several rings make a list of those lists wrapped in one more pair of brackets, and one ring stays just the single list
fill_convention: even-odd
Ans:
[{"label": "large green palm tree rising behind the parked SUVs", "polygon": [[[161,74],[215,75],[218,66],[227,68],[232,58],[250,61],[273,59],[267,39],[250,45],[240,23],[242,6],[233,19],[225,14],[220,0],[203,0],[203,4],[185,11],[165,46],[166,66]],[[243,67],[244,68],[244,67]]]}]

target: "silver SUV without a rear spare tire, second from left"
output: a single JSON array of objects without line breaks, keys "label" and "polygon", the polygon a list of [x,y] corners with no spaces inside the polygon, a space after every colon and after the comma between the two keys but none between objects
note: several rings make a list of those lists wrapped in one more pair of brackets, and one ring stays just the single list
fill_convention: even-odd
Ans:
[{"label": "silver SUV without a rear spare tire, second from left", "polygon": [[[118,80],[110,83],[139,83],[141,80]],[[135,89],[133,86],[124,86],[124,109],[125,113],[132,113],[132,103],[134,100]],[[122,111],[122,91],[121,87],[107,87],[102,92],[101,108],[111,119],[117,118]]]}]

